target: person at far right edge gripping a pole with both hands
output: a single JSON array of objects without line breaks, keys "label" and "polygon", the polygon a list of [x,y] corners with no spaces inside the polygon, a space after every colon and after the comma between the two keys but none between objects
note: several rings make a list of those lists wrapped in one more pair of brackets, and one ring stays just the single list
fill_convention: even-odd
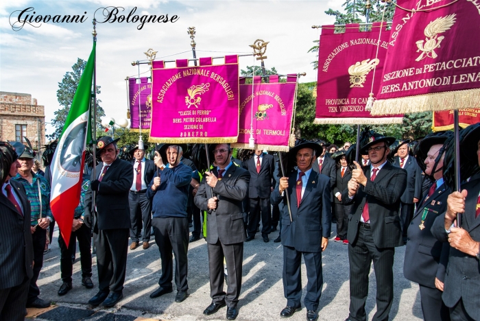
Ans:
[{"label": "person at far right edge gripping a pole with both hands", "polygon": [[[460,162],[468,166],[466,176],[480,166],[480,124],[472,126],[476,128],[460,142]],[[431,228],[439,241],[450,243],[442,300],[451,320],[480,320],[480,175],[462,184],[461,192],[448,195],[446,204],[446,212]],[[457,227],[457,213],[461,227]]]}]

